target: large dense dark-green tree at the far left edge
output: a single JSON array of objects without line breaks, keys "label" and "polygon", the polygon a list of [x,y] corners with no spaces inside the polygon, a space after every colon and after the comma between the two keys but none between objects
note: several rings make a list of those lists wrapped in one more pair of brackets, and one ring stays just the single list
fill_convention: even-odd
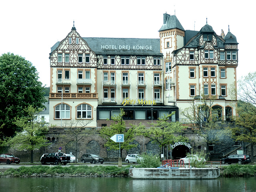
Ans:
[{"label": "large dense dark-green tree at the far left edge", "polygon": [[0,139],[10,137],[22,128],[14,118],[26,117],[23,110],[32,105],[44,108],[44,88],[36,68],[25,58],[14,54],[0,56]]}]

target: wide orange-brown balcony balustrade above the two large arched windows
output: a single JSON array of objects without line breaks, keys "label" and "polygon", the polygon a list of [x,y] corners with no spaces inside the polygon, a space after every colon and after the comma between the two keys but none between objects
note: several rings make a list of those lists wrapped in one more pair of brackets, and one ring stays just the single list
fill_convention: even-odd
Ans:
[{"label": "wide orange-brown balcony balustrade above the two large arched windows", "polygon": [[50,99],[80,99],[80,98],[86,98],[86,99],[98,99],[98,93],[50,93],[49,95]]}]

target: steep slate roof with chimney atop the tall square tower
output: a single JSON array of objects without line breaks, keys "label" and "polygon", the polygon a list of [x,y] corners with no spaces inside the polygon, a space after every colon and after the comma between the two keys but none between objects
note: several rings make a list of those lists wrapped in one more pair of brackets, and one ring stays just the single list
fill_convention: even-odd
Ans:
[{"label": "steep slate roof with chimney atop the tall square tower", "polygon": [[164,24],[162,25],[159,31],[173,28],[178,28],[185,31],[175,15],[164,14]]}]

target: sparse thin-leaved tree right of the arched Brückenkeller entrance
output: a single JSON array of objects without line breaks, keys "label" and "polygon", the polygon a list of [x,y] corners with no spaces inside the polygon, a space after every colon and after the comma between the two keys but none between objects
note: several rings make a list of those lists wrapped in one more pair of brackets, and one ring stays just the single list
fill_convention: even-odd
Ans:
[{"label": "sparse thin-leaved tree right of the arched Br\u00fcckenkeller entrance", "polygon": [[185,116],[182,123],[204,138],[206,154],[209,153],[209,144],[220,144],[230,135],[230,132],[221,126],[222,109],[214,106],[215,101],[216,96],[201,94],[191,100],[190,107],[181,110],[181,114]]}]

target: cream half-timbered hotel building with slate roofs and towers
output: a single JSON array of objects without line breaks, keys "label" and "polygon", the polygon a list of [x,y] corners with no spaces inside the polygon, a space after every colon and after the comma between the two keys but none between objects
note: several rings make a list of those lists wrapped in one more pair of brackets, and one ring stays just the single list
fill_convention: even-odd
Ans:
[{"label": "cream half-timbered hotel building with slate roofs and towers", "polygon": [[50,124],[102,127],[120,108],[127,126],[172,112],[177,121],[179,110],[202,92],[216,96],[219,116],[234,115],[228,88],[236,82],[236,37],[218,36],[207,23],[184,30],[168,14],[159,37],[83,38],[73,26],[51,48]]}]

